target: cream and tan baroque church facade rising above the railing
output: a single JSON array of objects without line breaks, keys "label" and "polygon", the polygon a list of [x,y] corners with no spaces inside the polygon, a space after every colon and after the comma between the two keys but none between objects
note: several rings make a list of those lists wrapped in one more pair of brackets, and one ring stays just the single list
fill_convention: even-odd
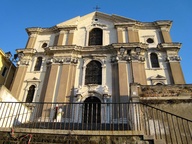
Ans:
[{"label": "cream and tan baroque church facade rising above the railing", "polygon": [[11,93],[23,102],[129,102],[130,84],[185,84],[172,21],[93,12],[31,27]]}]

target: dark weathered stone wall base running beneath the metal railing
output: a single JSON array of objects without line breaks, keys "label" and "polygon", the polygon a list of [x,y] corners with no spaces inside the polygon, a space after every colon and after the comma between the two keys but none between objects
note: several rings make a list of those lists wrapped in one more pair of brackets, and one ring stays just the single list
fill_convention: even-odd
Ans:
[{"label": "dark weathered stone wall base running beneath the metal railing", "polygon": [[[26,137],[25,137],[26,136]],[[31,134],[30,144],[152,144],[153,140],[144,140],[142,136],[77,136],[54,134]],[[0,143],[27,143],[29,136],[26,133],[15,133],[15,138],[10,133],[0,132]]]}]

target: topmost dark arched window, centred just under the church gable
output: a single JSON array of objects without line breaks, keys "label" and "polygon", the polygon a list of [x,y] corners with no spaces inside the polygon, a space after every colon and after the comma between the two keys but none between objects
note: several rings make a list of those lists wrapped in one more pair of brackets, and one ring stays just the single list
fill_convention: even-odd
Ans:
[{"label": "topmost dark arched window, centred just under the church gable", "polygon": [[89,32],[89,45],[102,45],[103,31],[99,28],[94,28]]}]

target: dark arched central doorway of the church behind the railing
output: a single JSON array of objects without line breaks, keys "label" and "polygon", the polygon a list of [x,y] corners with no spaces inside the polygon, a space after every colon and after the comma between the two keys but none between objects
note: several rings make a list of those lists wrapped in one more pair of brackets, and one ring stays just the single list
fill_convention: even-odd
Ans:
[{"label": "dark arched central doorway of the church behind the railing", "polygon": [[83,105],[84,123],[101,123],[101,101],[97,97],[88,97]]}]

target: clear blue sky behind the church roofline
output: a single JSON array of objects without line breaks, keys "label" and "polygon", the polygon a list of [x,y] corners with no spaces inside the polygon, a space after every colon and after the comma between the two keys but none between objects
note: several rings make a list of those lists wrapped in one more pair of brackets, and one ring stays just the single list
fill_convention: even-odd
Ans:
[{"label": "clear blue sky behind the church roofline", "polygon": [[51,27],[95,11],[142,22],[172,20],[173,42],[181,42],[180,56],[186,83],[192,83],[192,0],[1,0],[0,48],[24,48],[27,27]]}]

